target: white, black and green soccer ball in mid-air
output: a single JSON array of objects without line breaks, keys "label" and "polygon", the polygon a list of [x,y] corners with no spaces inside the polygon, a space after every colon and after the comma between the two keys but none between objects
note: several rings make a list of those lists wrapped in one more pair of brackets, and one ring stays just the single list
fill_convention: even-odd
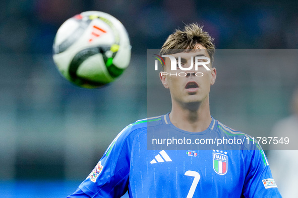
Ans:
[{"label": "white, black and green soccer ball in mid-air", "polygon": [[58,29],[53,59],[61,74],[84,88],[114,81],[128,67],[131,45],[123,24],[113,16],[83,12]]}]

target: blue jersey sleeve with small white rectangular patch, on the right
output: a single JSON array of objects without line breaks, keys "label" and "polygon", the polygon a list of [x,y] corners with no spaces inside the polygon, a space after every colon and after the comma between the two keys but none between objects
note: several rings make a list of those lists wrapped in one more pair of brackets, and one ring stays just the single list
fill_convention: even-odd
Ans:
[{"label": "blue jersey sleeve with small white rectangular patch, on the right", "polygon": [[272,177],[267,157],[262,148],[244,150],[246,178],[245,197],[282,197]]}]

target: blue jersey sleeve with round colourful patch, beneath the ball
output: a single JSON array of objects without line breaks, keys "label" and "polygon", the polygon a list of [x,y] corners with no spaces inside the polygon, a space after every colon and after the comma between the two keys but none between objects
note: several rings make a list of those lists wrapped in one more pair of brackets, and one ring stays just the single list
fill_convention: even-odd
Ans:
[{"label": "blue jersey sleeve with round colourful patch, beneath the ball", "polygon": [[69,197],[121,197],[128,190],[130,169],[130,127],[113,140],[102,158]]}]

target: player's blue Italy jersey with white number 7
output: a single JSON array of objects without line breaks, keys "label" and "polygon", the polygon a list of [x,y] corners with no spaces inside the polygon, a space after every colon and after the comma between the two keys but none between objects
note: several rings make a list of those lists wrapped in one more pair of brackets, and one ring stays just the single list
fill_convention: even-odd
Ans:
[{"label": "player's blue Italy jersey with white number 7", "polygon": [[[127,126],[69,197],[121,197],[127,190],[130,197],[281,197],[259,145],[254,149],[242,145],[229,150],[148,150],[147,132],[186,133],[172,125],[168,115]],[[249,137],[213,118],[208,129],[192,134]]]}]

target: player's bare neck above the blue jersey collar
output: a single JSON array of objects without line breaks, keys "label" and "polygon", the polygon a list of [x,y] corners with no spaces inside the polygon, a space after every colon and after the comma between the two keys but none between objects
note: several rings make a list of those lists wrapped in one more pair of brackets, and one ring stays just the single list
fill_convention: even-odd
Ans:
[{"label": "player's bare neck above the blue jersey collar", "polygon": [[197,105],[198,108],[185,108],[185,106],[173,103],[169,115],[171,123],[175,127],[189,132],[206,130],[212,121],[209,100]]}]

